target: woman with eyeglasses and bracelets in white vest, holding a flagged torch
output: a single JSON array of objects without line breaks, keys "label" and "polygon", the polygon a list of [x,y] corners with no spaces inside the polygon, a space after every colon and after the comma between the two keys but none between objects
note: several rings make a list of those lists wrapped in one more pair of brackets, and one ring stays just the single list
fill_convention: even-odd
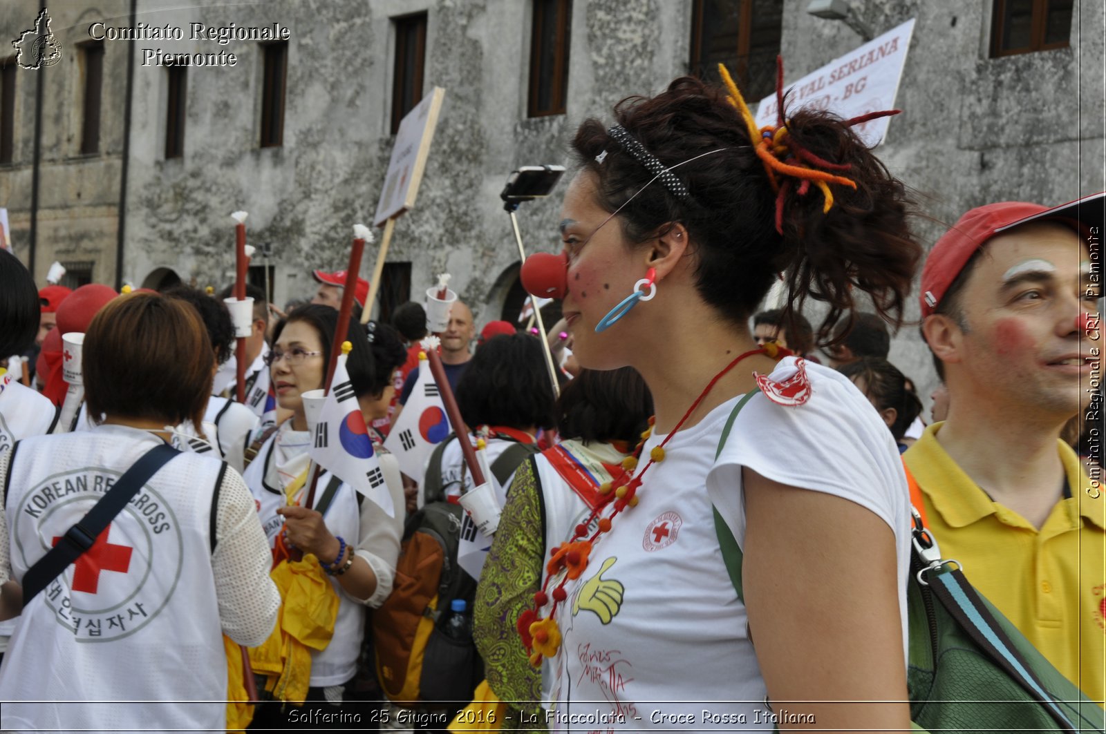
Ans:
[{"label": "woman with eyeglasses and bracelets in white vest, holding a flagged torch", "polygon": [[[267,356],[276,401],[292,417],[262,444],[244,478],[258,503],[261,524],[278,564],[285,549],[311,554],[326,574],[337,596],[337,614],[330,642],[311,650],[310,689],[304,710],[324,714],[352,713],[352,682],[365,630],[366,608],[378,607],[392,591],[399,537],[403,532],[403,483],[395,458],[378,451],[380,469],[395,507],[389,517],[353,487],[324,472],[312,507],[304,507],[311,478],[307,448],[312,437],[303,407],[303,394],[323,387],[331,345],[337,328],[334,308],[306,305],[281,319],[273,329],[273,347]],[[346,339],[353,346],[346,361],[349,380],[358,396],[371,395],[378,380],[375,359],[364,327],[351,323]],[[384,375],[389,373],[382,370]],[[316,574],[317,576],[317,574]],[[328,589],[321,591],[325,596]],[[325,599],[320,604],[325,605]],[[302,605],[301,605],[302,607]],[[285,612],[291,606],[285,600]],[[286,625],[285,625],[286,626]],[[254,661],[254,669],[259,668]],[[259,680],[259,689],[279,691],[291,678],[285,668]],[[300,692],[303,694],[303,692]],[[285,699],[300,703],[291,693]],[[251,728],[281,728],[290,714],[280,706],[259,706]],[[304,712],[304,715],[306,713]]]}]

